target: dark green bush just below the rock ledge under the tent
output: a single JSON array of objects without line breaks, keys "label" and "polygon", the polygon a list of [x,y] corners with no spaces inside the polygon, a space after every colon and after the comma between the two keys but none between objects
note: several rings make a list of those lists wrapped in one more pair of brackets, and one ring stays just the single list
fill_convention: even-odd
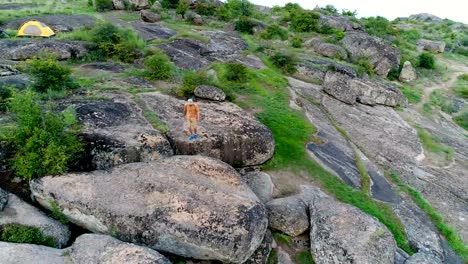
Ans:
[{"label": "dark green bush just below the rock ledge under the tent", "polygon": [[27,60],[21,67],[34,79],[34,89],[39,92],[61,91],[74,88],[71,69],[51,56]]}]

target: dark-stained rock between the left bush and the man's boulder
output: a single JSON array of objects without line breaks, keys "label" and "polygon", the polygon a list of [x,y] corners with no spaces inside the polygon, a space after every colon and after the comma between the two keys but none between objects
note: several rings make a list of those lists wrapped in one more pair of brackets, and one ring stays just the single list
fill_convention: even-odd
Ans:
[{"label": "dark-stained rock between the left bush and the man's boulder", "polygon": [[80,137],[85,154],[77,170],[108,169],[118,164],[151,161],[173,155],[166,137],[142,116],[126,96],[110,95],[102,101],[67,101],[83,124]]}]

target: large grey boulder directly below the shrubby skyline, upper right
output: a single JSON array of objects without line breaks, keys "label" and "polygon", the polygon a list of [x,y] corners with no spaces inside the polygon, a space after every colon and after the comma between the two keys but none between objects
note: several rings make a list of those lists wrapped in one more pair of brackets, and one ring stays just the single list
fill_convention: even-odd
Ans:
[{"label": "large grey boulder directly below the shrubby skyline, upper right", "polygon": [[341,40],[343,47],[350,53],[351,59],[369,58],[374,71],[380,76],[387,76],[392,68],[400,66],[400,52],[383,39],[362,32],[349,32]]}]

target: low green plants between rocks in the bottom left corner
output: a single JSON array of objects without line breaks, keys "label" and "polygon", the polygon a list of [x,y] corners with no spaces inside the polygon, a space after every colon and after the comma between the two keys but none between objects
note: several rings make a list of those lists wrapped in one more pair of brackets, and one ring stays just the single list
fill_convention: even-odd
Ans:
[{"label": "low green plants between rocks in the bottom left corner", "polygon": [[8,224],[0,227],[0,234],[1,240],[5,242],[56,246],[54,238],[44,236],[37,227]]}]

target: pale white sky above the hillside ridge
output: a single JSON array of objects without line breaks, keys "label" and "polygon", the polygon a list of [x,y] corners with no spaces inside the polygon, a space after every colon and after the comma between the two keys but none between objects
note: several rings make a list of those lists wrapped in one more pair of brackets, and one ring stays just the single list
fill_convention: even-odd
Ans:
[{"label": "pale white sky above the hillside ridge", "polygon": [[298,3],[312,9],[315,6],[334,5],[339,11],[357,10],[358,17],[383,16],[389,20],[408,17],[412,14],[430,13],[440,18],[468,24],[468,1],[466,0],[250,0],[257,5],[284,6],[288,2]]}]

